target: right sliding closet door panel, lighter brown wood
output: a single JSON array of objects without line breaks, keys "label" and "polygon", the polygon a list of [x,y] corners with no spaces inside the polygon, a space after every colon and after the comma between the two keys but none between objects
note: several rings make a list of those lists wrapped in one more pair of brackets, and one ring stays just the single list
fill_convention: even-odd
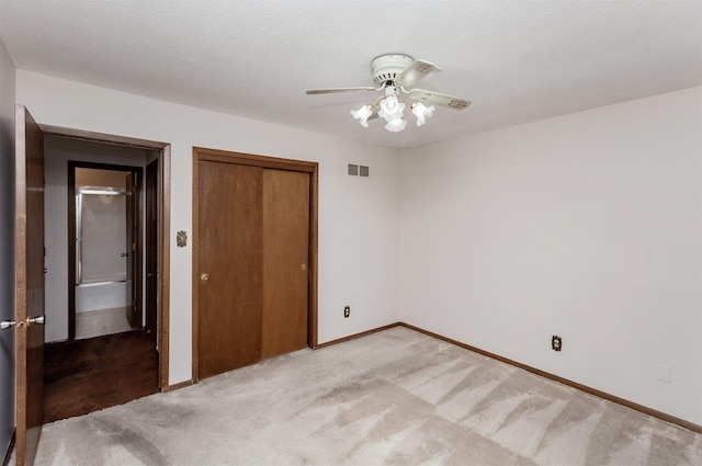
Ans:
[{"label": "right sliding closet door panel, lighter brown wood", "polygon": [[263,171],[263,349],[307,346],[309,174]]}]

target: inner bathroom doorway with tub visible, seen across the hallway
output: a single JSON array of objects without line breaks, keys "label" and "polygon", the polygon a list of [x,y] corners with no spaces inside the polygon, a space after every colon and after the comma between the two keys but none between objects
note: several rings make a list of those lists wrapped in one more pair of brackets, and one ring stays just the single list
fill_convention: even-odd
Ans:
[{"label": "inner bathroom doorway with tub visible, seen across the hallway", "polygon": [[68,258],[76,279],[68,291],[69,340],[146,327],[141,171],[68,162]]}]

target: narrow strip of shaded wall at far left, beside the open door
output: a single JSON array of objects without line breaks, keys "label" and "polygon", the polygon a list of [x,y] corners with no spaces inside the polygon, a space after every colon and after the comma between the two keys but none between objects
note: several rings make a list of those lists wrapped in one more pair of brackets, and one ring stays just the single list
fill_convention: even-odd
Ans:
[{"label": "narrow strip of shaded wall at far left, beside the open door", "polygon": [[[14,65],[0,42],[0,320],[14,319]],[[0,331],[0,456],[14,429],[14,330]]]}]

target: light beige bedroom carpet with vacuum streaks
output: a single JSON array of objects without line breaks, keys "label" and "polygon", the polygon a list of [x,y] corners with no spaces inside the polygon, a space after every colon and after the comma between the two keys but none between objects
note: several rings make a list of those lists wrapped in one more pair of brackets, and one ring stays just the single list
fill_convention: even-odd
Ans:
[{"label": "light beige bedroom carpet with vacuum streaks", "polygon": [[44,427],[36,465],[688,465],[702,435],[393,328]]}]

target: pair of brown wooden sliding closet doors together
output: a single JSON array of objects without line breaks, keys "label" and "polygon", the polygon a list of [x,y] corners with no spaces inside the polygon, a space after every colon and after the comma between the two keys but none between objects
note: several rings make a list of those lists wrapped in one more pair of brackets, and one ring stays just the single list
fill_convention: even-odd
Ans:
[{"label": "pair of brown wooden sliding closet doors together", "polygon": [[307,346],[310,174],[197,161],[197,378]]}]

